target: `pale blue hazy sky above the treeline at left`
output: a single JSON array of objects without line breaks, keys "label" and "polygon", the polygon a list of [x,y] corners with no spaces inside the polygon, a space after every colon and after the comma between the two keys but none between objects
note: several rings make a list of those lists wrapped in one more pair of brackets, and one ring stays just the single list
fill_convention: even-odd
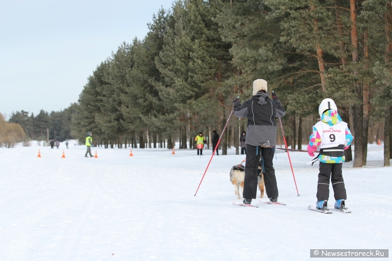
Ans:
[{"label": "pale blue hazy sky above the treeline at left", "polygon": [[121,43],[172,0],[0,0],[0,113],[68,108]]}]

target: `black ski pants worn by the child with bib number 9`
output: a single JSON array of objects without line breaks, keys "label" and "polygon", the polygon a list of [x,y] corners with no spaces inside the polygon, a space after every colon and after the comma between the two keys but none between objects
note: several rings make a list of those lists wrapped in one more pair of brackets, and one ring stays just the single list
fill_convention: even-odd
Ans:
[{"label": "black ski pants worn by the child with bib number 9", "polygon": [[[329,198],[329,179],[331,179],[332,189],[334,190],[335,200],[347,199],[346,189],[342,176],[343,163],[327,164],[320,162],[319,181],[317,184],[317,200],[328,200]],[[331,175],[332,174],[332,175]]]}]

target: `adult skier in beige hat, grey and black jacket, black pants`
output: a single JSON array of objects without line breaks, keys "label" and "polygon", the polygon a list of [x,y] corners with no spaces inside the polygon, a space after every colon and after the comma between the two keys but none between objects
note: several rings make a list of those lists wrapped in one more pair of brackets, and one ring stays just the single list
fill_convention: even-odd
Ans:
[{"label": "adult skier in beige hat, grey and black jacket, black pants", "polygon": [[269,97],[267,81],[257,79],[253,81],[253,97],[241,105],[238,99],[233,100],[234,115],[247,118],[246,128],[246,165],[244,181],[244,203],[250,204],[256,198],[258,167],[261,157],[264,172],[264,182],[270,201],[278,200],[278,186],[276,184],[275,169],[272,160],[276,143],[275,118],[286,114],[276,93],[272,91]]}]

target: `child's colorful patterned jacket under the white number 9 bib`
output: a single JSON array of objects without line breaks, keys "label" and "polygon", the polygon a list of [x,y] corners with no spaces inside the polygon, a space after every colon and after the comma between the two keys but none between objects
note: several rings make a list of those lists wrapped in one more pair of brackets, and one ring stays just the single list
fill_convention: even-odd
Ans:
[{"label": "child's colorful patterned jacket under the white number 9 bib", "polygon": [[[342,120],[342,118],[339,116],[338,112],[333,109],[324,112],[321,116],[320,121],[323,122],[324,124],[327,124],[328,126],[334,126],[334,125],[339,124],[341,122],[345,123]],[[309,145],[308,145],[307,149],[308,149],[308,153],[310,156],[314,156],[314,152],[319,152],[320,147],[322,147],[322,145],[325,145],[325,143],[328,142],[328,141],[326,141],[326,142],[322,141],[321,137],[323,137],[323,136],[320,135],[321,133],[319,133],[319,131],[318,131],[318,129],[320,129],[318,124],[320,126],[320,124],[322,124],[322,123],[318,122],[313,126],[313,133],[309,137]],[[326,127],[328,127],[328,126],[322,125],[322,127],[324,127],[324,129],[327,129]],[[354,139],[354,137],[351,135],[350,130],[348,129],[348,127],[346,127],[345,128],[345,141],[342,142],[342,143],[344,143],[343,144],[344,149],[347,149],[350,146],[353,139]],[[344,156],[332,157],[332,156],[322,155],[321,153],[319,154],[318,158],[319,158],[319,161],[322,163],[331,163],[331,164],[343,163],[345,160]]]}]

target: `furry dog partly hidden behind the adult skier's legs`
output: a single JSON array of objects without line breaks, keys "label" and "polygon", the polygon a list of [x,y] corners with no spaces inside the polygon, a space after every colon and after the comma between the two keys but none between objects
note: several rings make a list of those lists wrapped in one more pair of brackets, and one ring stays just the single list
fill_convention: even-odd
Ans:
[{"label": "furry dog partly hidden behind the adult skier's legs", "polygon": [[[241,199],[241,194],[244,191],[244,180],[245,180],[245,166],[244,165],[234,165],[230,170],[230,181],[234,185],[234,193],[237,195],[238,199]],[[260,189],[260,197],[264,196],[264,175],[261,171],[261,162],[259,162],[259,177],[257,179],[259,189]],[[240,193],[241,187],[241,193]]]}]

